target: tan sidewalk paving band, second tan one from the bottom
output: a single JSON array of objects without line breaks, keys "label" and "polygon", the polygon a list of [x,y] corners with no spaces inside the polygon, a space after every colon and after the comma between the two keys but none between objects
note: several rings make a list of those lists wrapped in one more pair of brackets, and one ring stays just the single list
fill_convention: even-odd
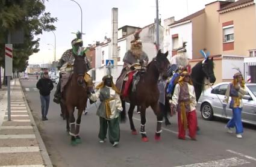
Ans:
[{"label": "tan sidewalk paving band, second tan one from the bottom", "polygon": [[0,147],[39,146],[36,139],[0,139]]}]

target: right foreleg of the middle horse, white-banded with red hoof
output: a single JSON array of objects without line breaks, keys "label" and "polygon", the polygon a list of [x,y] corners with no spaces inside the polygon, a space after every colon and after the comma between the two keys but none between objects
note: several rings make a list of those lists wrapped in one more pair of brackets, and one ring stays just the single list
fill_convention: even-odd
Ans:
[{"label": "right foreleg of the middle horse, white-banded with red hoof", "polygon": [[161,132],[162,132],[162,123],[163,123],[163,114],[159,109],[158,103],[151,105],[155,115],[157,115],[157,130],[155,131],[155,140],[160,141],[161,139]]}]

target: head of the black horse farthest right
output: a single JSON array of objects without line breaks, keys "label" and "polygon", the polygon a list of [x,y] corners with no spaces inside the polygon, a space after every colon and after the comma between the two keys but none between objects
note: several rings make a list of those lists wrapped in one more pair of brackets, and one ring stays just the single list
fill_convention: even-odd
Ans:
[{"label": "head of the black horse farthest right", "polygon": [[207,57],[202,61],[202,71],[204,71],[204,74],[207,77],[207,79],[209,79],[210,83],[214,83],[216,81],[213,68],[214,68],[213,58],[209,59]]}]

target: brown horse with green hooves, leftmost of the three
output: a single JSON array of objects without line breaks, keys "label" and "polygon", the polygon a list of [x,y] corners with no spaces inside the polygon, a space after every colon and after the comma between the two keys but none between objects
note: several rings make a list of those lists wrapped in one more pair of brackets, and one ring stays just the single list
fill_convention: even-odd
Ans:
[{"label": "brown horse with green hooves, leftmost of the three", "polygon": [[[86,109],[87,102],[87,85],[84,80],[84,73],[87,71],[87,65],[84,56],[75,56],[73,64],[73,74],[67,85],[64,87],[62,94],[62,103],[64,114],[67,120],[67,132],[71,135],[71,144],[75,145],[81,142],[79,136],[81,115]],[[78,116],[75,123],[73,112],[78,109]]]}]

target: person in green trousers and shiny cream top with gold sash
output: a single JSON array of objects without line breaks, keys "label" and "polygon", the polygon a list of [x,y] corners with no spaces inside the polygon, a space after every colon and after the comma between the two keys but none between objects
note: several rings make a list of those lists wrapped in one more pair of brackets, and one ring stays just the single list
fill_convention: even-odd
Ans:
[{"label": "person in green trousers and shiny cream top with gold sash", "polygon": [[96,87],[96,93],[92,94],[91,99],[101,101],[97,111],[99,116],[99,142],[105,142],[108,130],[109,141],[113,147],[116,147],[120,139],[119,115],[123,108],[119,90],[114,85],[111,75],[108,74],[102,78],[102,82]]}]

